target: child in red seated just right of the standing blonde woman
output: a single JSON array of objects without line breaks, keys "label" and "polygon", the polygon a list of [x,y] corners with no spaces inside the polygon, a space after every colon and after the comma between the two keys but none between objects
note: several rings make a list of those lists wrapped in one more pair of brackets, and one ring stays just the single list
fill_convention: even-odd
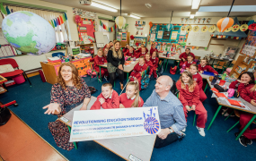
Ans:
[{"label": "child in red seated just right of the standing blonde woman", "polygon": [[145,71],[147,68],[147,65],[145,64],[144,57],[139,57],[138,63],[134,66],[133,72],[130,74],[130,81],[137,80],[139,85],[139,90],[141,90],[141,72]]}]

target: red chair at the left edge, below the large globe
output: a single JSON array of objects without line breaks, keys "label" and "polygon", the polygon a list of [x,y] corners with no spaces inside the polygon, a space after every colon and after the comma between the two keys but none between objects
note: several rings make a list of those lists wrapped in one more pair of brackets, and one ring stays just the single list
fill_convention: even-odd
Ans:
[{"label": "red chair at the left edge, below the large globe", "polygon": [[[0,75],[2,75],[3,77],[5,78],[8,78],[8,77],[14,77],[14,76],[17,76],[17,75],[20,75],[22,74],[23,77],[26,79],[26,80],[29,80],[26,72],[24,72],[23,70],[20,70],[19,69],[19,65],[16,63],[16,61],[12,58],[7,58],[7,59],[0,59],[0,65],[4,65],[4,64],[11,64],[13,66],[13,69],[15,71],[13,72],[4,72],[4,73],[0,73]],[[31,81],[29,80],[30,84],[31,84]]]}]

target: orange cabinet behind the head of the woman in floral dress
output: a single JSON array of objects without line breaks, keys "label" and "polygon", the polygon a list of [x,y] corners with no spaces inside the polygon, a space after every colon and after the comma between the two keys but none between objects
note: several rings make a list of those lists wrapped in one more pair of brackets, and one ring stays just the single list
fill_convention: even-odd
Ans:
[{"label": "orange cabinet behind the head of the woman in floral dress", "polygon": [[[75,60],[75,61],[71,62],[72,64],[75,64],[75,67],[78,70],[79,76],[86,75],[87,70],[91,69],[90,64],[88,62],[90,59],[91,59],[91,57],[86,57],[86,58]],[[57,65],[54,66],[56,75],[57,75],[57,72],[58,72],[58,69],[59,69],[60,65],[61,64],[57,64]]]}]

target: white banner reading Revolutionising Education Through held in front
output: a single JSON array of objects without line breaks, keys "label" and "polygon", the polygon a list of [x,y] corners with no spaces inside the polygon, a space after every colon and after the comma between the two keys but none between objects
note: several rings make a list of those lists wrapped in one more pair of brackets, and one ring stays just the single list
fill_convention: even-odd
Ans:
[{"label": "white banner reading Revolutionising Education Through held in front", "polygon": [[157,134],[157,106],[75,111],[70,142]]}]

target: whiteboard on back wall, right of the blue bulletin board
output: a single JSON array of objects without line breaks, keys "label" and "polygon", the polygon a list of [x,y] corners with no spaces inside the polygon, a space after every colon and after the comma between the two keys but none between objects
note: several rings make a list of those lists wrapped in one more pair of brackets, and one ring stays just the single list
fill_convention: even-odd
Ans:
[{"label": "whiteboard on back wall, right of the blue bulletin board", "polygon": [[[192,28],[196,25],[191,25]],[[199,31],[194,32],[193,30],[190,31],[188,39],[187,39],[187,46],[193,46],[193,47],[208,47],[208,44],[211,40],[211,32],[201,32],[201,28],[205,25],[199,25]],[[212,25],[207,25],[207,27],[210,27]]]}]

